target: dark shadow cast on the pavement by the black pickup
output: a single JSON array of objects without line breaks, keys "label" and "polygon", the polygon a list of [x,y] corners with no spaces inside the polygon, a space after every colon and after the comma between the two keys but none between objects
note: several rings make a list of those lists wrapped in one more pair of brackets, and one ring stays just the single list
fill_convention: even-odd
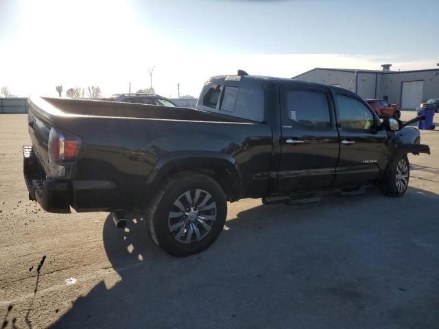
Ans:
[{"label": "dark shadow cast on the pavement by the black pickup", "polygon": [[[201,254],[174,258],[104,224],[121,276],[79,297],[54,328],[437,328],[439,195],[373,191],[257,206]],[[435,213],[436,212],[436,213]]]}]

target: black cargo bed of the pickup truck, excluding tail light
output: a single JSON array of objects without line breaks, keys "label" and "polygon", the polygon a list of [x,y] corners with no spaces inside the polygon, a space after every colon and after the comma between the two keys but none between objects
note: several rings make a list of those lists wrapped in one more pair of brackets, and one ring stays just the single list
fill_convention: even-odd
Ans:
[{"label": "black cargo bed of the pickup truck, excluding tail light", "polygon": [[[189,108],[47,97],[29,99],[28,119],[32,153],[43,171],[36,168],[38,177],[30,175],[27,180],[37,178],[43,184],[45,176],[49,184],[53,178],[52,189],[58,188],[58,195],[64,184],[68,197],[63,204],[77,211],[144,207],[167,163],[192,168],[193,161],[203,158],[213,161],[214,167],[225,161],[237,168],[242,179],[237,198],[268,189],[272,130],[266,123]],[[52,128],[81,141],[66,177],[51,173]],[[68,210],[63,207],[51,211]]]}]

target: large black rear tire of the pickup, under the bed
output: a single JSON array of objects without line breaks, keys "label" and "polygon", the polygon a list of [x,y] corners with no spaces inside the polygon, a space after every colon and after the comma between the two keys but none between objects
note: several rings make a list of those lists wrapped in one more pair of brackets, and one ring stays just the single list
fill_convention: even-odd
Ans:
[{"label": "large black rear tire of the pickup, under the bed", "polygon": [[[186,206],[190,206],[186,197],[187,191],[189,191],[189,197],[193,202],[191,211],[196,209],[195,206],[197,205],[194,203],[197,201],[195,199],[197,193],[198,198],[203,199],[202,202],[210,195],[209,201],[207,202],[209,206],[206,204],[203,206],[200,200],[197,201],[198,205],[201,206],[200,208],[209,208],[212,204],[214,204],[215,208],[211,210],[200,209],[198,211],[204,217],[199,217],[198,211],[196,211],[196,217],[189,219],[190,216],[185,215],[185,213],[189,213],[187,210],[189,208],[186,208]],[[183,196],[185,196],[185,199],[181,199]],[[176,208],[177,202],[180,202],[178,203],[180,207],[185,206],[186,212],[180,210],[181,208]],[[213,211],[214,215],[206,215],[206,212],[209,211],[211,213]],[[176,224],[171,225],[172,221],[174,221],[174,214],[178,213],[182,213],[183,215],[176,217]],[[193,215],[195,215],[195,212]],[[209,219],[210,230],[206,230],[206,226],[204,226],[204,223],[208,223],[206,219],[208,216],[215,216],[215,219],[212,221]],[[165,252],[173,256],[197,254],[214,243],[222,232],[227,217],[226,195],[221,186],[207,175],[193,171],[177,173],[161,186],[156,197],[150,202],[145,217],[152,240],[156,245],[165,250]],[[201,221],[201,218],[205,218],[206,221],[204,221],[204,219]],[[171,231],[171,227],[176,225],[180,226],[174,231]],[[195,228],[197,234],[195,234],[193,228]],[[180,230],[182,233],[180,233]],[[202,234],[200,236],[200,232],[206,234],[201,239],[199,239],[202,236]],[[193,236],[193,234],[195,234],[195,236]],[[187,240],[189,240],[189,243]]]}]

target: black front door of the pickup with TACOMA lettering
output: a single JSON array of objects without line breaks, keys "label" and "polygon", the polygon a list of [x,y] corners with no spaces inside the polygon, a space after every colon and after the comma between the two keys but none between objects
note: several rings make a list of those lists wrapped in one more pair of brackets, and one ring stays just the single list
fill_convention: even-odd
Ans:
[{"label": "black front door of the pickup with TACOMA lettering", "polygon": [[341,93],[334,98],[341,140],[334,185],[374,182],[387,163],[387,132],[363,101]]}]

